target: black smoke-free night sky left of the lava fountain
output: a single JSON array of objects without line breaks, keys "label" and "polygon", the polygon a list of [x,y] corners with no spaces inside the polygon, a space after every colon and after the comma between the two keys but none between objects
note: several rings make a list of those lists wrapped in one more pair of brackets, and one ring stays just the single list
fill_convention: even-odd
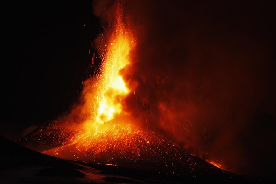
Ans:
[{"label": "black smoke-free night sky left of the lava fountain", "polygon": [[[99,32],[92,2],[1,3],[1,135],[17,139],[70,109]],[[84,26],[85,24],[85,26]]]}]

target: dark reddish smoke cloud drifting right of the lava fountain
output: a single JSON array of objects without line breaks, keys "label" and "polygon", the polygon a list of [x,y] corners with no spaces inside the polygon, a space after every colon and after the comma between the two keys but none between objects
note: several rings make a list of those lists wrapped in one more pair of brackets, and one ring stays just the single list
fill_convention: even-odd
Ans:
[{"label": "dark reddish smoke cloud drifting right of the lava fountain", "polygon": [[[95,1],[103,27],[112,23],[117,3]],[[272,176],[275,74],[269,5],[137,0],[122,6],[138,40],[133,64],[123,72],[129,86],[138,84],[126,110],[145,128],[199,156],[215,155],[233,172]]]}]

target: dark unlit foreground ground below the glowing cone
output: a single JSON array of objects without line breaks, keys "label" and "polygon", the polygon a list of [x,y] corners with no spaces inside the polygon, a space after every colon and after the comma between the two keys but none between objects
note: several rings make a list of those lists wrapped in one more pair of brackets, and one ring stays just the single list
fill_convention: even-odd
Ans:
[{"label": "dark unlit foreground ground below the glowing cone", "polygon": [[[49,123],[47,124],[49,125]],[[38,135],[37,132],[43,132],[43,127],[45,128],[45,126],[41,126],[20,139],[21,143],[27,137],[30,140],[31,135],[34,138],[34,135]],[[51,140],[49,139],[49,141]],[[0,143],[3,148],[0,154],[5,158],[1,159],[0,162],[0,178],[3,183],[183,183],[183,181],[202,181],[203,179],[227,183],[266,181],[260,178],[235,175],[214,168],[214,166],[196,157],[191,157],[190,160],[203,164],[198,168],[202,168],[201,174],[197,172],[186,176],[173,175],[172,173],[164,175],[158,172],[159,168],[155,168],[155,171],[148,171],[113,164],[62,160],[23,147],[3,137],[0,137]],[[182,167],[183,170],[190,170],[188,169],[189,165]]]}]

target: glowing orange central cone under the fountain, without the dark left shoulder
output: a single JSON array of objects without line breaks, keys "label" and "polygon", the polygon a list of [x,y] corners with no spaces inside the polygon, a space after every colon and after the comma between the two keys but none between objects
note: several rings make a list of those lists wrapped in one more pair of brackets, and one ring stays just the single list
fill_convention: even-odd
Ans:
[{"label": "glowing orange central cone under the fountain, without the dark left shoulder", "polygon": [[66,160],[141,168],[175,175],[225,174],[151,131],[112,125],[81,133],[67,145],[43,152]]}]

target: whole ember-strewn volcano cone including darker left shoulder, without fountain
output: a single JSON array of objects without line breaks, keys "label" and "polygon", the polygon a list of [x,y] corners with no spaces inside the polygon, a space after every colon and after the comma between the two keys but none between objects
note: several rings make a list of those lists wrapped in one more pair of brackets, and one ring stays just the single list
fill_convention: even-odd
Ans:
[{"label": "whole ember-strewn volcano cone including darker left shoulder, without fountain", "polygon": [[111,165],[186,179],[232,181],[243,178],[193,156],[154,132],[113,126],[80,136],[77,130],[81,130],[77,124],[65,126],[56,121],[47,122],[17,143],[88,166]]}]

